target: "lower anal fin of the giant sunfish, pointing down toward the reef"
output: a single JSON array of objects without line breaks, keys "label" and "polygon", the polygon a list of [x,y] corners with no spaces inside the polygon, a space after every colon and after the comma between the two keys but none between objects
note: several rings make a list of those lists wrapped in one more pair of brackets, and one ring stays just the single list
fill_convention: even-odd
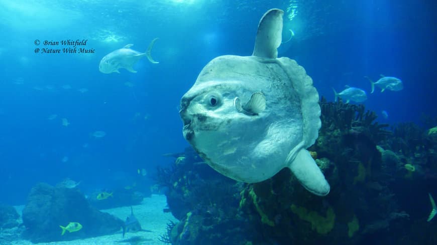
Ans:
[{"label": "lower anal fin of the giant sunfish, pointing down toward the reef", "polygon": [[301,149],[288,167],[308,191],[318,196],[330,192],[329,183],[307,150]]}]

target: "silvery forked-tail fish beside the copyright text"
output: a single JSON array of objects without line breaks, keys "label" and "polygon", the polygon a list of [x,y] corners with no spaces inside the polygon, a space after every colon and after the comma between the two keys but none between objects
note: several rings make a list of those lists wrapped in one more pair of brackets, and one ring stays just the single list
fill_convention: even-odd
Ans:
[{"label": "silvery forked-tail fish beside the copyright text", "polygon": [[130,49],[133,46],[133,44],[128,44],[121,49],[118,49],[116,51],[107,54],[105,57],[101,59],[100,64],[98,66],[98,70],[101,73],[109,74],[113,72],[120,73],[119,69],[125,68],[126,70],[135,73],[137,71],[134,70],[133,66],[144,56],[147,57],[150,63],[158,64],[159,62],[154,61],[150,54],[153,45],[155,44],[155,41],[157,39],[158,38],[152,40],[145,53],[141,53]]}]

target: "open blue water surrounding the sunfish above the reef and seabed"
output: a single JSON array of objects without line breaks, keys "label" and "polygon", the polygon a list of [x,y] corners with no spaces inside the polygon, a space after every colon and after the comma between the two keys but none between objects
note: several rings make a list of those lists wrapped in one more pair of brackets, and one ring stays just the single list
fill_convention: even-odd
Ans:
[{"label": "open blue water surrounding the sunfish above the reef and seabed", "polygon": [[[284,17],[284,40],[288,28],[295,36],[279,56],[302,65],[321,96],[333,101],[332,88],[362,88],[366,108],[390,124],[437,115],[434,2],[290,2],[298,11],[292,21]],[[69,177],[91,192],[132,183],[138,168],[153,174],[169,164],[162,154],[188,146],[178,105],[202,67],[219,55],[251,55],[261,16],[289,5],[0,0],[0,202],[25,203],[41,181]],[[127,44],[144,52],[156,37],[159,64],[144,58],[134,66],[138,73],[99,72],[106,54]],[[35,54],[37,39],[88,40],[95,53]],[[400,78],[404,89],[370,94],[364,76],[376,81],[380,74]],[[95,138],[95,131],[106,135]]]}]

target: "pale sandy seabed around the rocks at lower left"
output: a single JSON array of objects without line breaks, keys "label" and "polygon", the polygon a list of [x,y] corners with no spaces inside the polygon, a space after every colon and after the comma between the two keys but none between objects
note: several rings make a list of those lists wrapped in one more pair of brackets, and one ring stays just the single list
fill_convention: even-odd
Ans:
[{"label": "pale sandy seabed around the rocks at lower left", "polygon": [[[103,235],[98,237],[91,237],[86,239],[78,239],[71,241],[53,241],[53,242],[41,242],[33,243],[29,240],[15,240],[10,245],[110,245],[110,244],[131,244],[130,239],[141,238],[140,242],[132,242],[132,244],[147,244],[147,245],[163,245],[166,244],[158,238],[166,233],[166,227],[169,220],[177,221],[171,213],[165,213],[162,211],[167,205],[165,195],[152,195],[143,199],[140,205],[132,206],[134,214],[141,223],[143,229],[151,230],[153,232],[139,231],[136,233],[126,233],[125,237],[122,237],[122,231],[111,235]],[[21,214],[23,206],[16,207]],[[110,213],[116,217],[125,220],[127,216],[131,214],[131,207],[118,207],[111,209],[102,209],[102,212]],[[3,245],[3,244],[2,244]]]}]

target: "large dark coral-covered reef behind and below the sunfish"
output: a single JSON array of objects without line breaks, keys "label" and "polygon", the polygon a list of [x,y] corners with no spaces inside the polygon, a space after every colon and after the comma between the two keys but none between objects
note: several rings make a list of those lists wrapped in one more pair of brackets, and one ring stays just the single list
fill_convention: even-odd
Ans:
[{"label": "large dark coral-covered reef behind and below the sunfish", "polygon": [[[331,184],[329,195],[308,193],[287,168],[263,182],[237,183],[186,149],[158,170],[158,183],[180,220],[169,224],[163,241],[406,245],[415,237],[433,244],[435,224],[425,226],[427,213],[417,205],[429,205],[426,192],[437,185],[437,133],[414,124],[387,130],[363,105],[322,98],[320,107],[322,127],[309,150]],[[419,237],[420,229],[428,237]]]}]

